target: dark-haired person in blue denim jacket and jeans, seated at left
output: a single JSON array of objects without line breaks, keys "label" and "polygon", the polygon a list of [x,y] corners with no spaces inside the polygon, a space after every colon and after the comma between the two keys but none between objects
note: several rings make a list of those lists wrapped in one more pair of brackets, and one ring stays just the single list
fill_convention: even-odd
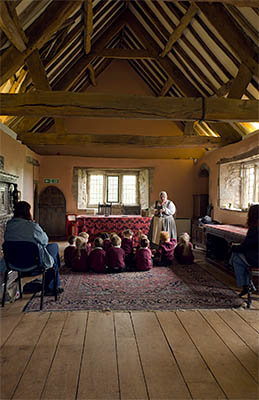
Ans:
[{"label": "dark-haired person in blue denim jacket and jeans, seated at left", "polygon": [[[57,277],[57,293],[62,293],[59,277],[59,248],[56,243],[48,243],[48,236],[39,224],[32,220],[31,206],[26,201],[19,201],[14,210],[13,218],[7,222],[4,241],[28,241],[39,247],[40,257],[46,267],[54,265]],[[1,260],[1,270],[4,271],[5,262]],[[45,294],[52,295],[54,279],[50,270],[45,275]]]}]

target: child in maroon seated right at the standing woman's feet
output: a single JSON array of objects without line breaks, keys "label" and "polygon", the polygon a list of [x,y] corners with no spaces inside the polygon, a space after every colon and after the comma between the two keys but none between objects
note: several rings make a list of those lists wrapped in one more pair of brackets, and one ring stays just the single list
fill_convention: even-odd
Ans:
[{"label": "child in maroon seated right at the standing woman's feet", "polygon": [[174,248],[176,240],[170,240],[169,232],[161,231],[160,244],[157,250],[154,250],[154,264],[160,266],[172,265],[174,260]]}]

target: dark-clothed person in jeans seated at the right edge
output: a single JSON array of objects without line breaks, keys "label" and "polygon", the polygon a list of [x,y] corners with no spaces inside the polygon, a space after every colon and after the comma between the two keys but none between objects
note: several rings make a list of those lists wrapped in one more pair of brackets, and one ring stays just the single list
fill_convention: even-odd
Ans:
[{"label": "dark-clothed person in jeans seated at the right edge", "polygon": [[259,204],[250,206],[247,217],[248,231],[240,245],[232,246],[229,263],[234,267],[237,285],[242,286],[239,296],[248,293],[249,267],[259,268]]}]

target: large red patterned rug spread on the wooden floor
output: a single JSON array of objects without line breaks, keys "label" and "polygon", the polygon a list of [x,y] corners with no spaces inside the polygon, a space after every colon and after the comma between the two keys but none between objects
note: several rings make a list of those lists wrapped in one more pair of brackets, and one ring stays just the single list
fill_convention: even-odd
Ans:
[{"label": "large red patterned rug spread on the wooden floor", "polygon": [[[242,303],[198,264],[101,275],[63,270],[61,279],[64,293],[57,302],[45,297],[44,311],[220,309]],[[39,302],[33,297],[24,311],[39,311]]]}]

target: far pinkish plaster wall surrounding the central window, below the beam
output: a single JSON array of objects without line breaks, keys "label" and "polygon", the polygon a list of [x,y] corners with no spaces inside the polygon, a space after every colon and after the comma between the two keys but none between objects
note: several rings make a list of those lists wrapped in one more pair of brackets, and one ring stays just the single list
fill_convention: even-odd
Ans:
[{"label": "far pinkish plaster wall surrounding the central window, below the beam", "polygon": [[105,159],[71,156],[42,157],[40,168],[40,191],[48,184],[44,178],[59,179],[57,186],[65,195],[67,213],[82,213],[77,210],[72,196],[73,167],[96,168],[154,168],[154,181],[151,193],[151,204],[158,198],[161,190],[166,190],[168,197],[177,207],[178,218],[192,216],[192,194],[194,191],[194,166],[191,160],[137,160],[137,159]]}]

